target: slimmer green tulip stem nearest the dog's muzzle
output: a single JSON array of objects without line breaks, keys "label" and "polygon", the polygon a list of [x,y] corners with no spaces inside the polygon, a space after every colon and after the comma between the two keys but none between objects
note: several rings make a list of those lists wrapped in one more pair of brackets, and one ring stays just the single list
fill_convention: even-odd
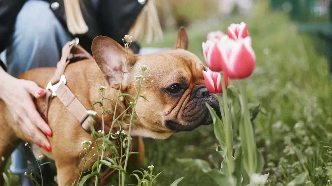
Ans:
[{"label": "slimmer green tulip stem nearest the dog's muzzle", "polygon": [[[222,72],[223,73],[223,72]],[[228,98],[227,98],[227,91],[226,91],[226,84],[225,84],[225,79],[223,74],[221,73],[221,84],[222,84],[222,97],[223,97],[223,103],[224,103],[224,110],[225,110],[225,120],[223,120],[224,123],[224,128],[225,128],[225,141],[226,141],[226,146],[227,146],[227,152],[226,152],[226,157],[227,157],[227,167],[228,167],[228,172],[229,175],[233,173],[233,148],[231,145],[231,135],[230,133],[233,132],[231,130],[231,123],[229,123],[229,109],[228,109]],[[220,106],[222,107],[222,106]],[[232,135],[233,136],[233,135]]]}]

